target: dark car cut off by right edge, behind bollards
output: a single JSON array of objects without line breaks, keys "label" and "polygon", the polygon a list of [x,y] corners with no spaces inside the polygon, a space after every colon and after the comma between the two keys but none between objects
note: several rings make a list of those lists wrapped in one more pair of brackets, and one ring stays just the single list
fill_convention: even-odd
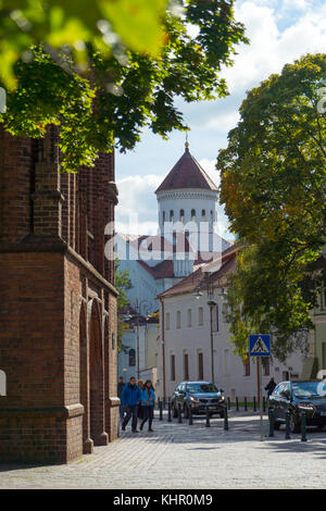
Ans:
[{"label": "dark car cut off by right edge, behind bollards", "polygon": [[274,409],[274,427],[278,429],[290,412],[290,429],[301,429],[301,413],[306,412],[306,425],[326,425],[326,383],[318,381],[281,382],[269,396],[269,408]]}]

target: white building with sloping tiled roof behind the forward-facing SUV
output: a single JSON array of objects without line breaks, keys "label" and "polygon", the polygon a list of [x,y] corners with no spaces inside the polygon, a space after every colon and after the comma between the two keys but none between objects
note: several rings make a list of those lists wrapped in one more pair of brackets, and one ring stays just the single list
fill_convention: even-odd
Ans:
[{"label": "white building with sloping tiled roof behind the forward-facing SUV", "polygon": [[[208,299],[209,265],[202,265],[180,283],[160,296],[161,339],[159,349],[158,392],[168,398],[183,381],[214,381],[218,388],[234,401],[238,398],[258,396],[256,364],[249,359],[235,356],[229,342],[228,325],[222,289],[226,276],[235,270],[236,249],[224,252],[222,267],[211,276]],[[196,298],[196,296],[198,298]],[[215,304],[212,304],[212,301]],[[209,306],[208,302],[211,302]],[[212,337],[211,337],[212,308]],[[212,345],[213,340],[213,371]],[[271,376],[275,382],[299,377],[303,359],[300,353],[288,358],[286,363],[277,361],[263,365],[263,386]],[[212,377],[212,372],[214,377]]]}]

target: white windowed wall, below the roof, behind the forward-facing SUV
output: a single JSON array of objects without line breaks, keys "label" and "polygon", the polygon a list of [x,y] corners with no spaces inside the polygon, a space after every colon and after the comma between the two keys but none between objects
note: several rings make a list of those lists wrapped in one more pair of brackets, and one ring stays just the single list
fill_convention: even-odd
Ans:
[{"label": "white windowed wall, below the roof, behind the forward-facing SUV", "polygon": [[[251,360],[250,376],[243,375],[243,364],[239,357],[233,353],[233,346],[229,342],[228,326],[224,322],[222,314],[222,298],[214,297],[214,301],[218,303],[220,331],[214,333],[214,383],[218,388],[223,388],[226,396],[253,397],[258,395],[256,386],[256,365]],[[208,307],[208,297],[204,294],[199,300],[193,295],[184,295],[179,297],[166,298],[164,300],[164,312],[166,322],[166,313],[170,313],[171,328],[164,329],[165,341],[165,382],[166,396],[173,395],[175,387],[185,379],[184,374],[184,353],[188,352],[189,359],[189,379],[196,381],[198,374],[198,352],[203,353],[203,379],[211,381],[211,337],[210,337],[210,309]],[[203,326],[198,324],[198,309],[203,308]],[[191,309],[192,326],[188,326],[187,310]],[[180,328],[176,327],[176,314],[180,312]],[[161,310],[161,323],[163,321]],[[171,354],[175,354],[176,377],[171,379]],[[278,383],[283,379],[283,372],[298,374],[300,376],[302,370],[302,356],[296,353],[288,358],[285,364],[277,361],[271,364],[269,375],[263,376],[263,385],[265,386],[271,376],[275,377]],[[162,341],[160,342],[160,367],[158,378],[160,382],[160,392],[163,394],[163,375],[162,375]]]}]

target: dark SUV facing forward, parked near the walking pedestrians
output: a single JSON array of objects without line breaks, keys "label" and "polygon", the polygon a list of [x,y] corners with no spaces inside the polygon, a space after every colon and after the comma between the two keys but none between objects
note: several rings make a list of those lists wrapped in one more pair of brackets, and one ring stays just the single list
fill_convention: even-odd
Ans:
[{"label": "dark SUV facing forward, parked near the walking pedestrians", "polygon": [[224,417],[225,399],[214,384],[210,382],[183,382],[180,383],[172,397],[172,413],[174,417],[178,415],[178,403],[185,417],[189,416],[189,407],[191,403],[192,414],[199,415],[206,413],[209,406],[210,415],[218,413]]}]

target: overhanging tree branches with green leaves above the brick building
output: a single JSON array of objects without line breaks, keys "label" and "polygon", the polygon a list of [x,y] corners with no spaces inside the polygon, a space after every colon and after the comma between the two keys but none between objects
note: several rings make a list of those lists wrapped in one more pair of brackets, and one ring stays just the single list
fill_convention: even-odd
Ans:
[{"label": "overhanging tree branches with green leaves above the brick building", "polygon": [[[11,2],[4,3],[11,5]],[[36,3],[30,0],[32,5]],[[179,2],[184,9],[180,16],[175,15],[173,9],[165,9],[163,0],[97,1],[95,9],[93,4],[84,3],[47,3],[45,12],[50,21],[51,9],[57,9],[50,28],[59,27],[60,37],[58,40],[42,37],[43,33],[48,34],[47,17],[40,36],[27,40],[33,47],[24,39],[12,64],[14,86],[8,94],[8,109],[0,114],[0,122],[13,135],[41,137],[47,125],[59,125],[62,170],[74,172],[80,165],[91,166],[99,151],[108,152],[114,147],[121,151],[133,149],[145,127],[165,138],[173,129],[186,130],[183,115],[174,105],[175,97],[192,102],[228,94],[221,68],[233,64],[238,43],[248,42],[243,25],[234,18],[234,1],[185,0]],[[118,5],[127,9],[128,3],[134,8],[139,4],[143,13],[151,12],[150,16],[139,16],[139,20],[136,16],[141,37],[134,26],[133,9],[129,15],[121,17],[122,23],[113,23],[113,12],[114,18],[118,18]],[[28,18],[23,4],[17,2]],[[128,32],[134,42],[126,36],[112,42],[108,35],[112,27],[105,25],[105,20],[100,23],[104,4],[112,27],[121,35]],[[152,28],[158,16],[161,32]],[[72,20],[75,20],[75,27],[86,22],[91,25],[91,28],[87,25],[83,37],[78,35],[77,48],[83,47],[83,58],[76,43],[64,39],[64,34],[72,34],[67,29]],[[16,26],[12,25],[12,12],[9,25],[1,23],[0,40],[1,35],[7,37],[8,30],[13,30],[12,37],[5,40],[14,45]],[[40,16],[35,27],[40,25],[41,28],[43,23]],[[32,25],[34,27],[34,23]],[[151,46],[145,49],[137,45],[141,39],[150,45],[145,35],[149,32],[152,40],[154,35],[158,38],[158,30],[159,38],[160,34],[165,34],[164,43],[161,37],[161,42],[153,46],[154,51],[150,51]],[[1,45],[0,59],[5,61],[7,55],[13,53],[4,42]],[[25,46],[27,49],[23,51]],[[2,74],[0,86],[5,84]]]}]

